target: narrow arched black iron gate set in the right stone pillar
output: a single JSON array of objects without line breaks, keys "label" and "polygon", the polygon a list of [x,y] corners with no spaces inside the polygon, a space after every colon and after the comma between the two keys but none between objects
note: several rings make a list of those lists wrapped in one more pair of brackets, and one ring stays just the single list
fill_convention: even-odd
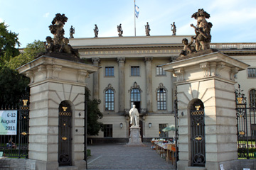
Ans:
[{"label": "narrow arched black iron gate set in the right stone pillar", "polygon": [[191,106],[191,165],[205,166],[206,142],[205,142],[205,118],[204,106],[201,100],[196,100]]}]

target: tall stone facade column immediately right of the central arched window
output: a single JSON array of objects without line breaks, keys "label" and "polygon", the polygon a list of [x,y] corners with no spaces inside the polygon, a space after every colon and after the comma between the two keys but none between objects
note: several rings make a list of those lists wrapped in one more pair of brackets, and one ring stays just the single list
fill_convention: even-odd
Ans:
[{"label": "tall stone facade column immediately right of the central arched window", "polygon": [[145,57],[146,62],[146,111],[152,111],[152,60],[153,57]]}]

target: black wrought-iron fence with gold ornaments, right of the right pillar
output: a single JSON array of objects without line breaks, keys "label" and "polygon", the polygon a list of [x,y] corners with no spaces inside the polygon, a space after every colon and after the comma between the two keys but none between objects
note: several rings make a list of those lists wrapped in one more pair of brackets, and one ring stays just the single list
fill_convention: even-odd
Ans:
[{"label": "black wrought-iron fence with gold ornaments, right of the right pillar", "polygon": [[255,157],[256,140],[256,108],[255,105],[247,107],[247,98],[242,94],[240,84],[235,89],[235,111],[237,117],[238,157],[250,159]]}]

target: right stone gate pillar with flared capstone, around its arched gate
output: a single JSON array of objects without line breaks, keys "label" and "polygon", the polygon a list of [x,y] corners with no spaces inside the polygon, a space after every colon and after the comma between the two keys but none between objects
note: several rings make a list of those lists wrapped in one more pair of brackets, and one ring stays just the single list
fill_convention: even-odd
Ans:
[{"label": "right stone gate pillar with flared capstone, around its arched gate", "polygon": [[205,136],[196,140],[205,142],[205,169],[219,169],[219,162],[238,159],[234,76],[247,66],[220,52],[162,66],[176,76],[179,170],[199,169],[191,167],[191,106],[198,100],[204,106]]}]

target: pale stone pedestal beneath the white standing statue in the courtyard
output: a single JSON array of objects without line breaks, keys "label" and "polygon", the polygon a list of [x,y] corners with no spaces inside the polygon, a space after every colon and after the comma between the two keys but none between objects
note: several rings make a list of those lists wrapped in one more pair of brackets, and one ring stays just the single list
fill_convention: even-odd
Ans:
[{"label": "pale stone pedestal beneath the white standing statue in the courtyard", "polygon": [[129,142],[127,143],[127,147],[136,147],[136,146],[144,146],[142,143],[142,137],[140,135],[140,129],[139,126],[132,126],[130,128],[130,136],[129,136]]}]

